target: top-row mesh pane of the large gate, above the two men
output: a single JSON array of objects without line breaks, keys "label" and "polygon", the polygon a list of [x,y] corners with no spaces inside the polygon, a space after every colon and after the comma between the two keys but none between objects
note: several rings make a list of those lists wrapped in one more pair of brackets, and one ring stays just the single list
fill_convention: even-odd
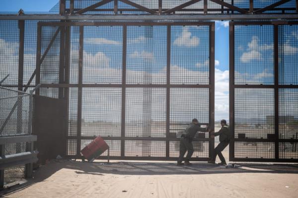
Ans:
[{"label": "top-row mesh pane of the large gate, above the two men", "polygon": [[171,84],[209,84],[209,26],[171,26]]}]

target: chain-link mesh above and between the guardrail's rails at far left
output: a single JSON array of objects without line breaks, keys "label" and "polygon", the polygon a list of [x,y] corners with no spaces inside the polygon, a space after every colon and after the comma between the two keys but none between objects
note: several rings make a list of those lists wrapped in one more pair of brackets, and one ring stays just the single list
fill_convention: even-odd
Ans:
[{"label": "chain-link mesh above and between the guardrail's rails at far left", "polygon": [[[30,95],[0,87],[0,136],[9,137],[30,133]],[[8,143],[4,147],[4,155],[18,154],[26,151],[26,142]],[[24,166],[4,169],[4,185],[20,181],[24,178]]]}]

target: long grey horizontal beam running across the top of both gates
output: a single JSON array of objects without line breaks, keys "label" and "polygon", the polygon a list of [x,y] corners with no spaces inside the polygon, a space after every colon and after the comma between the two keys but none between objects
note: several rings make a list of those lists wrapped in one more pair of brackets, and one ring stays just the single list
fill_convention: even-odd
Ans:
[{"label": "long grey horizontal beam running across the top of both gates", "polygon": [[[164,14],[164,15],[0,15],[0,20],[271,20],[298,19],[298,14]],[[162,22],[162,21],[161,21]]]}]

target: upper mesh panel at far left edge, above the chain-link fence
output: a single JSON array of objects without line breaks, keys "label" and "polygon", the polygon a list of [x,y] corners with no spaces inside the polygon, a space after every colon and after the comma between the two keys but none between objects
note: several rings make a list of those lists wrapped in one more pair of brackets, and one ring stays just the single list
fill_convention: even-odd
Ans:
[{"label": "upper mesh panel at far left edge, above the chain-link fence", "polygon": [[0,78],[7,74],[3,85],[15,85],[18,82],[18,21],[0,20]]}]

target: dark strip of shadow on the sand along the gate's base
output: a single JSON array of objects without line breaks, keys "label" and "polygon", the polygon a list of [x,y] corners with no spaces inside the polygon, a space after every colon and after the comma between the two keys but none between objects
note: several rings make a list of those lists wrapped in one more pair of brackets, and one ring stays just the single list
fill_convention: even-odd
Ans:
[{"label": "dark strip of shadow on the sand along the gate's base", "polygon": [[136,162],[117,161],[80,162],[72,160],[52,160],[46,166],[39,167],[34,178],[22,185],[17,185],[0,192],[0,196],[43,182],[61,169],[72,169],[78,175],[91,174],[103,176],[115,175],[194,175],[194,174],[232,174],[232,173],[274,173],[298,174],[298,164],[251,164],[236,163],[235,167],[226,168],[217,164],[195,162],[192,166],[177,166],[176,162]]}]

